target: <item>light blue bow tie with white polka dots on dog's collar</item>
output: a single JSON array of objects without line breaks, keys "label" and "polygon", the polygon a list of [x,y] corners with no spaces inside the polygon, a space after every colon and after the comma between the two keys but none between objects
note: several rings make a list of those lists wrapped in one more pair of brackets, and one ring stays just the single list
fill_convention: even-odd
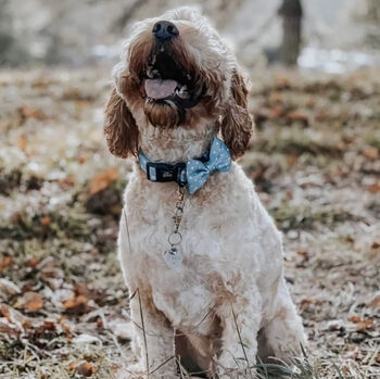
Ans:
[{"label": "light blue bow tie with white polka dots on dog's collar", "polygon": [[226,144],[214,137],[207,161],[190,160],[186,164],[188,190],[195,193],[214,172],[228,172],[231,168],[231,154]]}]

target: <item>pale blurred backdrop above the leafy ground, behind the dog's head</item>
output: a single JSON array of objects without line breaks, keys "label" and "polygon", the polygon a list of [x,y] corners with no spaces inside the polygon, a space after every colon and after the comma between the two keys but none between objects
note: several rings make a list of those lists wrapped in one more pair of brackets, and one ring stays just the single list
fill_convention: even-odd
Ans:
[{"label": "pale blurred backdrop above the leafy ground, behind the dog's head", "polygon": [[[284,20],[292,17],[302,23],[301,67],[344,73],[379,64],[378,0],[211,0],[192,4],[202,7],[217,29],[233,41],[246,67],[281,60],[283,28],[295,28],[296,23]],[[179,5],[182,2],[177,0],[1,0],[0,62],[74,67],[112,63],[135,20]]]}]

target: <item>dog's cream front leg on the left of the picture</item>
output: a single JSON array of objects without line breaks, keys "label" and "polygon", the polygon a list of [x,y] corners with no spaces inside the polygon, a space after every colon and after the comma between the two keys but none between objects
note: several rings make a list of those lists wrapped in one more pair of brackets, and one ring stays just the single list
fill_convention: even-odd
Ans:
[{"label": "dog's cream front leg on the left of the picture", "polygon": [[127,368],[130,378],[177,378],[174,329],[169,320],[142,291],[137,291],[130,301],[130,316],[140,355],[139,362]]}]

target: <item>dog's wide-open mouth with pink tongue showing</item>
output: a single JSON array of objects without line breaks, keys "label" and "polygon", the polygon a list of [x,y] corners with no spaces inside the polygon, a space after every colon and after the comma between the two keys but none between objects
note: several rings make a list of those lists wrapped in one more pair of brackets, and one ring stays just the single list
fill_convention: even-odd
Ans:
[{"label": "dog's wide-open mouth with pink tongue showing", "polygon": [[142,74],[143,98],[157,103],[172,102],[182,109],[197,105],[202,88],[195,85],[193,75],[181,66],[173,53],[161,47],[149,61]]}]

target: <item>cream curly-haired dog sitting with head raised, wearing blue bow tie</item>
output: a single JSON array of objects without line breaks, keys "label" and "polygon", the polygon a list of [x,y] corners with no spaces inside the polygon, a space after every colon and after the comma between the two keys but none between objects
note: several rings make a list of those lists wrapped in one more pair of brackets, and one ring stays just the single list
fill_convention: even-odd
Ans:
[{"label": "cream curly-haired dog sitting with head raised, wearing blue bow tie", "polygon": [[137,23],[114,68],[106,142],[137,157],[118,258],[138,363],[123,378],[252,377],[257,356],[290,361],[305,343],[281,235],[236,162],[253,131],[248,93],[191,8]]}]

